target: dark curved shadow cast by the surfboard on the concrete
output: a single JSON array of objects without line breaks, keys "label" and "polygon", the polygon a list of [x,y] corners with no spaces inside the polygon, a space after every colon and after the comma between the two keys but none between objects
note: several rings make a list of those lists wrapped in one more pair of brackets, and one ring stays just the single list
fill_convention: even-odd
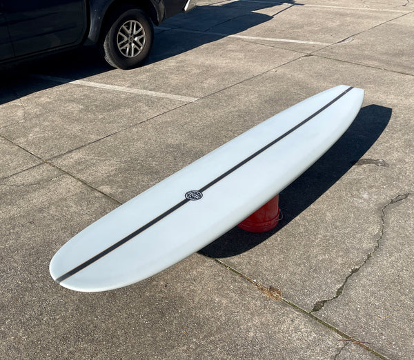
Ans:
[{"label": "dark curved shadow cast by the surfboard on the concrete", "polygon": [[275,229],[253,233],[235,227],[199,253],[215,258],[233,257],[266,241],[311,206],[364,156],[386,128],[391,113],[391,108],[383,106],[370,105],[362,108],[335,145],[280,193],[279,207],[283,219]]}]

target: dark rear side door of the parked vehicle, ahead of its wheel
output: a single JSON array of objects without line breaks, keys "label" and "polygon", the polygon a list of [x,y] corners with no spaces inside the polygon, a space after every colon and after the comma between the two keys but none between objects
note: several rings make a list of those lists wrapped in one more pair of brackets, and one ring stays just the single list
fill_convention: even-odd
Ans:
[{"label": "dark rear side door of the parked vehicle, ahead of its wheel", "polygon": [[17,57],[80,43],[85,0],[2,0]]}]

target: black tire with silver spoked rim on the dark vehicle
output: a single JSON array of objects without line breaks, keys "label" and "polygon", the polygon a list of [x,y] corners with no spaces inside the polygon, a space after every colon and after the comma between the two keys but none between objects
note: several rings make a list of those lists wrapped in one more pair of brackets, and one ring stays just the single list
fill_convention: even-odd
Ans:
[{"label": "black tire with silver spoked rim on the dark vehicle", "polygon": [[122,7],[108,21],[103,34],[103,57],[114,68],[141,66],[152,48],[154,27],[139,8]]}]

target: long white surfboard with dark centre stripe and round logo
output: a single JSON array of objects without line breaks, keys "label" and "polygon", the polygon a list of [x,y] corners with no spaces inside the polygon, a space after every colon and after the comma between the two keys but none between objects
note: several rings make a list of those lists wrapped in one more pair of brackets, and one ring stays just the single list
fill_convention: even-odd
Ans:
[{"label": "long white surfboard with dark centre stripe and round logo", "polygon": [[315,163],[363,99],[364,90],[337,86],[244,132],[79,232],[52,258],[52,278],[72,290],[111,290],[204,248]]}]

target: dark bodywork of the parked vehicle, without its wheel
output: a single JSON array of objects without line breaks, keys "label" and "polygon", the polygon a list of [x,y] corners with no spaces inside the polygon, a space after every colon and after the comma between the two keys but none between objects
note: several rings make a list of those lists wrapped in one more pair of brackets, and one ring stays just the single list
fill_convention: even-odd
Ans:
[{"label": "dark bodywork of the parked vehicle, without its wheel", "polygon": [[[184,11],[188,0],[128,0],[155,25]],[[99,43],[124,0],[0,0],[0,63]],[[109,23],[108,23],[109,24]]]}]

